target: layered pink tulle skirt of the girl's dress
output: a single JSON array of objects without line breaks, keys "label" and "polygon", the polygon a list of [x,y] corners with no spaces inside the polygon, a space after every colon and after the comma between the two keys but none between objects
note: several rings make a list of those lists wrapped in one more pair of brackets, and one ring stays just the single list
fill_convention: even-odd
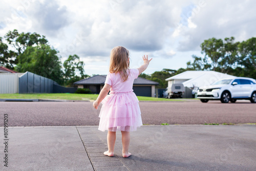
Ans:
[{"label": "layered pink tulle skirt of the girl's dress", "polygon": [[111,92],[102,101],[100,131],[136,131],[142,125],[139,100],[134,92]]}]

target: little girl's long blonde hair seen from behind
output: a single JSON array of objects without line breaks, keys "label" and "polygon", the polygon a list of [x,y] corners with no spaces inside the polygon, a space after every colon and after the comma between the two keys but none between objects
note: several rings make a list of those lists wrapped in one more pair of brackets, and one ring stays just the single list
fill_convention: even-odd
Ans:
[{"label": "little girl's long blonde hair seen from behind", "polygon": [[130,61],[129,60],[129,51],[121,46],[115,47],[112,49],[110,54],[110,73],[120,73],[121,79],[126,81],[129,74],[127,69],[129,69]]}]

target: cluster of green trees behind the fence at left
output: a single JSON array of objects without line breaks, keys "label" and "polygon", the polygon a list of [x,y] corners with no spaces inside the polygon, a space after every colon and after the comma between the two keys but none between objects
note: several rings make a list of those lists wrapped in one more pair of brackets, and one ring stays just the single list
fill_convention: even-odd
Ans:
[{"label": "cluster of green trees behind the fence at left", "polygon": [[[18,72],[32,72],[50,78],[59,84],[73,86],[73,82],[88,77],[79,56],[70,55],[62,64],[58,51],[50,47],[44,35],[9,31],[6,43],[0,37],[0,65]],[[11,49],[11,50],[10,50]]]}]

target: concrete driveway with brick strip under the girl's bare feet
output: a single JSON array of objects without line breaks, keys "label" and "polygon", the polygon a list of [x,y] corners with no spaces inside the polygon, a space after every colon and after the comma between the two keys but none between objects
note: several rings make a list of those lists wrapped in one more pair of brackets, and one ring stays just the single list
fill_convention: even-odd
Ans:
[{"label": "concrete driveway with brick strip under the girl's bare feet", "polygon": [[[143,125],[131,132],[122,158],[120,132],[115,156],[106,151],[98,126],[9,127],[8,168],[0,170],[255,170],[256,125]],[[0,127],[3,140],[3,127]],[[0,156],[4,157],[0,145]],[[3,159],[2,159],[3,161]]]}]

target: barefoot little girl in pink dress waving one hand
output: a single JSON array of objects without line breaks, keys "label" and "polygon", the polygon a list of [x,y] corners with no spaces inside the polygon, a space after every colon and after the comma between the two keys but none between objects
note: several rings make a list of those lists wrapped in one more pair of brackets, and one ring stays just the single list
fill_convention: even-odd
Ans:
[{"label": "barefoot little girl in pink dress waving one hand", "polygon": [[148,60],[145,55],[142,58],[142,66],[130,69],[129,51],[126,48],[118,46],[111,51],[109,73],[104,87],[93,103],[95,109],[98,109],[100,102],[102,103],[98,130],[108,130],[109,150],[104,152],[106,156],[114,156],[117,130],[122,133],[122,156],[131,156],[131,153],[128,153],[130,131],[136,131],[137,127],[142,125],[139,100],[133,92],[133,82],[152,60]]}]

